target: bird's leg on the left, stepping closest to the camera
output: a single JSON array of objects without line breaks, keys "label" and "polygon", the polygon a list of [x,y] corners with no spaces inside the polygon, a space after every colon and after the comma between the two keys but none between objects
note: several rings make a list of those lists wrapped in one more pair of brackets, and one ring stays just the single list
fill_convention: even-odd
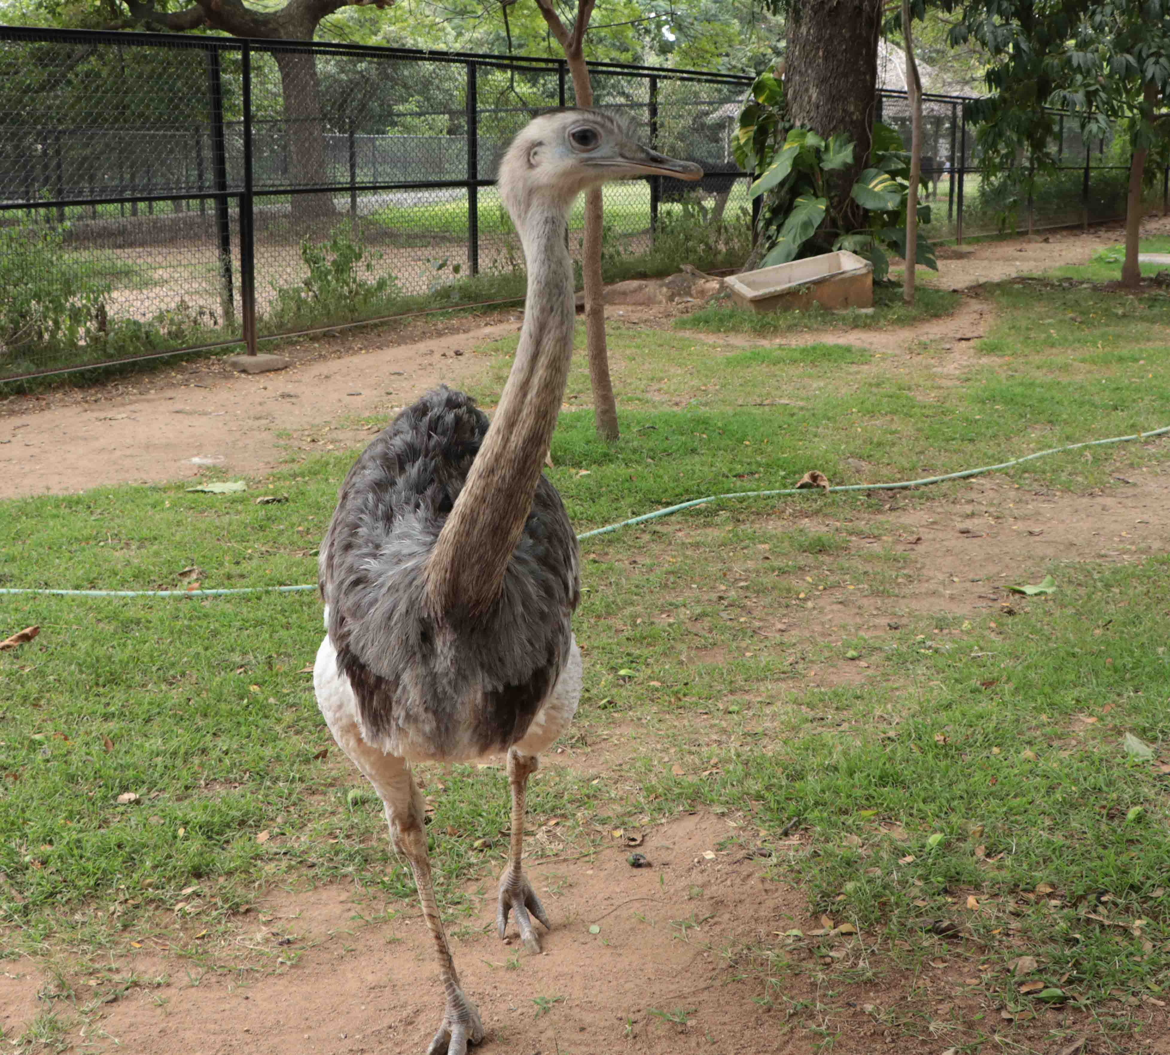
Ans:
[{"label": "bird's leg on the left, stepping closest to the camera", "polygon": [[435,1033],[427,1055],[467,1055],[468,1044],[483,1040],[483,1025],[475,1005],[467,999],[459,984],[455,961],[435,904],[434,886],[431,883],[431,861],[427,857],[426,806],[419,793],[411,767],[405,760],[383,754],[366,744],[357,724],[345,720],[322,707],[329,728],[342,749],[353,760],[365,777],[373,785],[386,809],[390,824],[390,841],[411,865],[414,885],[419,891],[422,918],[435,943],[439,957],[439,978],[442,981],[447,1006],[442,1023]]}]

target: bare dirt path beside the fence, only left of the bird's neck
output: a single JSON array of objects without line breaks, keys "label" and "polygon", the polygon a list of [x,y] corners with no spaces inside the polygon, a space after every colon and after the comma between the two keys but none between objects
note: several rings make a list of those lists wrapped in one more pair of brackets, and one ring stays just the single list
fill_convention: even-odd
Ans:
[{"label": "bare dirt path beside the fence, only left of the bird's neck", "polygon": [[[171,385],[0,418],[0,499],[183,479],[202,465],[233,475],[267,472],[290,445],[282,433],[388,417],[439,381],[459,385],[475,369],[473,349],[517,326],[481,324],[411,344],[371,342],[346,358],[273,374],[199,370],[198,379],[180,374]],[[359,436],[369,433],[331,426],[317,448],[353,446]]]}]

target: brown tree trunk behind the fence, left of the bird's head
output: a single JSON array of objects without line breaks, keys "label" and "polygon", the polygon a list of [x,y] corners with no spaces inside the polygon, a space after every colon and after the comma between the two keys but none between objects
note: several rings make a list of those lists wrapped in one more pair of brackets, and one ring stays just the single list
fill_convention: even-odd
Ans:
[{"label": "brown tree trunk behind the fence, left of the bird's head", "polygon": [[[273,57],[281,71],[289,184],[323,186],[329,183],[329,178],[325,169],[325,123],[321,116],[317,59],[309,52],[281,49],[275,49]],[[337,214],[332,194],[292,194],[291,198],[294,220]]]}]

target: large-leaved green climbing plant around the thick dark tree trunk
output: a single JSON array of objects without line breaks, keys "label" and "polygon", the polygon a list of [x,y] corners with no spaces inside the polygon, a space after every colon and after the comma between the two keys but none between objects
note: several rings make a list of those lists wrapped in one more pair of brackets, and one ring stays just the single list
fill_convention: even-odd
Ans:
[{"label": "large-leaved green climbing plant around the thick dark tree trunk", "polygon": [[[844,210],[830,192],[832,173],[848,169],[854,145],[844,135],[827,141],[810,129],[792,128],[784,114],[784,88],[771,74],[752,85],[752,98],[739,115],[732,138],[736,160],[759,176],[751,197],[766,194],[760,212],[760,238],[768,252],[763,267],[799,256],[848,249],[873,262],[874,279],[889,273],[890,252],[906,255],[906,211],[909,196],[909,155],[897,133],[874,126],[870,167],[858,176],[851,197],[863,211],[860,227],[847,224]],[[930,206],[918,206],[918,222],[930,222]],[[917,259],[937,270],[934,252],[921,228]]]}]

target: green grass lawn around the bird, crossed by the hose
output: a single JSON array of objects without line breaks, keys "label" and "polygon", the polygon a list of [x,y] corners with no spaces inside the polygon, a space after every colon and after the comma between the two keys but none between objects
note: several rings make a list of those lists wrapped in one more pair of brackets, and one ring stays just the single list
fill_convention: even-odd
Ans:
[{"label": "green grass lawn around the bird, crossed by the hose", "polygon": [[[791,486],[812,468],[834,484],[907,479],[1170,424],[1170,300],[1060,282],[989,295],[996,321],[950,384],[934,370],[944,352],[929,347],[904,356],[847,338],[777,347],[753,330],[738,331],[746,344],[721,343],[730,315],[709,337],[615,323],[622,439],[598,441],[591,411],[571,409],[589,398],[578,358],[549,475],[586,529],[714,492]],[[476,386],[488,405],[514,347],[489,349]],[[1150,468],[1165,450],[1061,454],[1009,477],[1081,492]],[[0,585],[312,582],[351,461],[352,452],[290,464],[243,494],[174,485],[7,502]],[[261,494],[288,500],[257,506]],[[810,505],[840,526],[785,519]],[[803,618],[813,584],[906,590],[914,573],[903,553],[854,546],[876,536],[881,515],[875,498],[810,494],[706,507],[586,542],[577,729],[636,724],[639,735],[622,747],[620,782],[589,766],[542,772],[534,821],[565,818],[567,837],[587,849],[594,827],[680,807],[730,810],[762,833],[753,842],[775,847],[776,875],[800,883],[813,910],[911,945],[922,918],[961,916],[987,955],[1037,955],[1060,991],[1046,1000],[1097,1009],[1115,991],[1162,992],[1166,774],[1128,754],[1123,738],[1156,759],[1170,735],[1170,562],[1053,566],[1058,592],[1020,601],[1011,619],[920,615],[880,642],[762,639],[762,618]],[[197,883],[208,905],[201,925],[220,927],[277,881],[357,877],[412,896],[408,872],[387,858],[378,803],[337,758],[312,700],[304,667],[322,635],[312,594],[0,596],[0,623],[41,626],[32,644],[0,652],[7,955],[64,945],[116,953]],[[849,662],[869,664],[863,690],[801,677]],[[476,842],[505,817],[507,786],[474,766],[442,781],[435,874],[457,913],[459,884],[500,869],[502,848]],[[126,793],[137,801],[119,803]],[[777,841],[792,821],[811,835],[798,850]],[[969,897],[978,912],[963,907]],[[1006,982],[1004,999],[1033,1000]]]}]

